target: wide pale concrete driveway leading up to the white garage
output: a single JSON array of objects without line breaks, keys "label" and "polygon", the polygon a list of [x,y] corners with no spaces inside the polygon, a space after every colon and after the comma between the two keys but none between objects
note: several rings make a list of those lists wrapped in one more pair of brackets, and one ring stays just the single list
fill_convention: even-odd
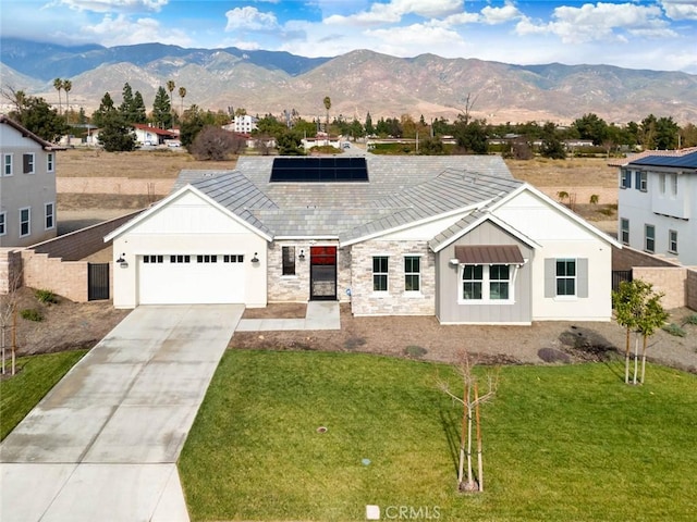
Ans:
[{"label": "wide pale concrete driveway leading up to the white garage", "polygon": [[188,521],[176,460],[243,311],[131,312],[0,445],[0,520]]}]

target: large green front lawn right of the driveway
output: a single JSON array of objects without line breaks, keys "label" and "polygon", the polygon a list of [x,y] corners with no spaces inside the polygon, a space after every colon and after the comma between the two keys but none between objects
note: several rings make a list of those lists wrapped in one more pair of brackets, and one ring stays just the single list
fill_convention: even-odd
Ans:
[{"label": "large green front lawn right of the driveway", "polygon": [[435,385],[449,368],[229,351],[180,459],[189,512],[362,521],[374,504],[383,519],[405,506],[421,520],[426,508],[448,521],[694,520],[697,377],[649,365],[633,387],[613,364],[503,368],[482,410],[486,490],[467,495],[455,490],[460,411]]}]

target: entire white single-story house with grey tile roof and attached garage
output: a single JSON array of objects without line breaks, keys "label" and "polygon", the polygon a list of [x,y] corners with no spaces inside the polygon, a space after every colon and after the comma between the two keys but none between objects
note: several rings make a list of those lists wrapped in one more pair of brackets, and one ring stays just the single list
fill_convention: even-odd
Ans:
[{"label": "entire white single-story house with grey tile roof and attached garage", "polygon": [[243,157],[106,237],[114,306],[339,300],[443,324],[611,319],[619,243],[499,157]]}]

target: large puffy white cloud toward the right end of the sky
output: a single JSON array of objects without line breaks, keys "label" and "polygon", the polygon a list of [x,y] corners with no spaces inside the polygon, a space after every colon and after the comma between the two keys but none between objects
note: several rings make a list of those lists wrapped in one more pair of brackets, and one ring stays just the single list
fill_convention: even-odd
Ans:
[{"label": "large puffy white cloud toward the right end of the sky", "polygon": [[586,3],[580,8],[562,5],[554,9],[552,21],[547,24],[523,18],[516,26],[521,36],[550,33],[564,44],[580,44],[594,40],[626,41],[622,32],[645,35],[675,36],[661,18],[658,5],[634,3]]}]

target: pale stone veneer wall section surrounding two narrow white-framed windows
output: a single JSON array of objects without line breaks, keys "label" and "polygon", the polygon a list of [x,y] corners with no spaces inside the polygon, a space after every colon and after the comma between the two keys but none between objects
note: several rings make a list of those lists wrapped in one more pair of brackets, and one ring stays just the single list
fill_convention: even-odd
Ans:
[{"label": "pale stone veneer wall section surrounding two narrow white-framed windows", "polygon": [[[436,257],[427,241],[365,241],[352,247],[354,315],[435,315]],[[420,293],[404,291],[404,257],[420,256]],[[372,291],[372,258],[388,256],[388,291]]]}]

